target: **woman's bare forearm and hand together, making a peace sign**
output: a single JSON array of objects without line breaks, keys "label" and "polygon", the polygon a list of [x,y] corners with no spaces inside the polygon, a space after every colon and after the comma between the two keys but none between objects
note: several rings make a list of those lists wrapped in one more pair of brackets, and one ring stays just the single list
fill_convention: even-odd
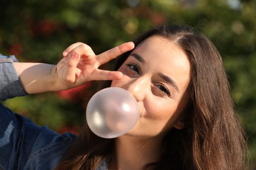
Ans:
[{"label": "woman's bare forearm and hand together, making a peace sign", "polygon": [[114,80],[122,77],[117,71],[98,67],[132,50],[133,42],[126,42],[102,54],[95,55],[87,44],[77,42],[64,50],[57,65],[45,63],[13,63],[27,93],[42,93],[75,88],[91,80]]}]

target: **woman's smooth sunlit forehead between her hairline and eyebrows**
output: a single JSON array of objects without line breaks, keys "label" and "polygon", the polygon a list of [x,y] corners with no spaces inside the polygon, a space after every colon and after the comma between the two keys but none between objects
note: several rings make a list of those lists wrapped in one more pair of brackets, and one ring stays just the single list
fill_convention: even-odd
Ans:
[{"label": "woman's smooth sunlit forehead between her hairline and eyebrows", "polygon": [[132,53],[141,56],[148,71],[170,76],[180,86],[188,84],[190,63],[184,51],[175,42],[152,36],[141,42]]}]

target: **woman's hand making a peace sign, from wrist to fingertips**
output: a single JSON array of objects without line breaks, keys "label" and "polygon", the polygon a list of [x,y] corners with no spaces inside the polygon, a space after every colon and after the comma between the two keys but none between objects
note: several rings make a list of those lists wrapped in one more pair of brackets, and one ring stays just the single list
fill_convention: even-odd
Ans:
[{"label": "woman's hand making a peace sign, from wrist to fingertips", "polygon": [[57,80],[56,87],[67,89],[81,86],[91,80],[121,78],[123,76],[121,72],[100,70],[98,67],[133,48],[133,42],[126,42],[102,54],[95,55],[87,44],[81,42],[72,44],[64,50],[64,58],[58,62],[54,69],[54,76]]}]

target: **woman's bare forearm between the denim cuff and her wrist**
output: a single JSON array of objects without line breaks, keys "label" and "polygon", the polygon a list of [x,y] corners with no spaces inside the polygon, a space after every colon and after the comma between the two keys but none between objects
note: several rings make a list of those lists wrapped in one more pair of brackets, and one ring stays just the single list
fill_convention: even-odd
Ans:
[{"label": "woman's bare forearm between the denim cuff and her wrist", "polygon": [[31,93],[52,92],[55,86],[55,65],[45,63],[13,63],[24,90]]}]

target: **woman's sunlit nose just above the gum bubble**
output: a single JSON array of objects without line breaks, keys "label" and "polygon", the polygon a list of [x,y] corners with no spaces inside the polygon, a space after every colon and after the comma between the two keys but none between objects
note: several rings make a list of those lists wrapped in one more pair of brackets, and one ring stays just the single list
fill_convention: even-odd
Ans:
[{"label": "woman's sunlit nose just above the gum bubble", "polygon": [[130,92],[137,101],[142,101],[146,96],[150,84],[146,78],[135,78],[125,86],[125,90]]}]

